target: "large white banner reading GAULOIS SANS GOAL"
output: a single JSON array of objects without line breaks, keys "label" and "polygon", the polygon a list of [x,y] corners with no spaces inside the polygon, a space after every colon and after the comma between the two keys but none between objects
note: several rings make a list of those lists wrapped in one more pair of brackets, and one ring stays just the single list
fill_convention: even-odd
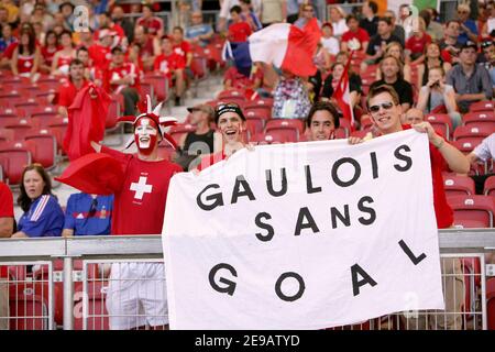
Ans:
[{"label": "large white banner reading GAULOIS SANS GOAL", "polygon": [[172,329],[321,329],[443,309],[428,138],[256,146],[178,174]]}]

